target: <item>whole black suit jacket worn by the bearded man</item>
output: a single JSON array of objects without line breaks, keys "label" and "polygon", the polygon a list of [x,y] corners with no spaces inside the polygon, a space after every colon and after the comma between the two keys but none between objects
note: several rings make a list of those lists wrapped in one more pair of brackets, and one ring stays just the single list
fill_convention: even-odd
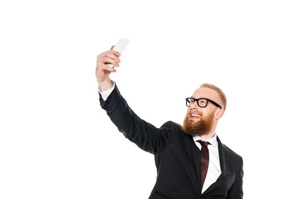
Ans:
[{"label": "whole black suit jacket worn by the bearded man", "polygon": [[[100,95],[100,94],[99,94]],[[100,105],[123,135],[154,154],[157,169],[149,199],[242,199],[243,160],[219,137],[222,174],[204,193],[201,185],[201,151],[181,125],[167,121],[160,128],[141,119],[115,89]]]}]

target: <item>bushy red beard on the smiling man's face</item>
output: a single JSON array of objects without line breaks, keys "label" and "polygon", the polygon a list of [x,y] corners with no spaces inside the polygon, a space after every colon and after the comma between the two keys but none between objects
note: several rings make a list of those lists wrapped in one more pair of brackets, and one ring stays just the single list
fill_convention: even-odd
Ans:
[{"label": "bushy red beard on the smiling man's face", "polygon": [[188,112],[184,118],[181,130],[188,135],[207,135],[213,130],[214,118],[214,113],[210,113],[207,116],[201,116],[201,118],[196,121],[190,118]]}]

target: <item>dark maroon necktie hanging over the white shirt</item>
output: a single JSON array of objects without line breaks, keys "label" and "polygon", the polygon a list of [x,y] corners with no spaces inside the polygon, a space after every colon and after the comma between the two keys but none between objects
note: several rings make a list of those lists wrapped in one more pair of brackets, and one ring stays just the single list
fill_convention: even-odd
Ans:
[{"label": "dark maroon necktie hanging over the white shirt", "polygon": [[205,142],[203,140],[198,140],[202,145],[201,148],[201,177],[202,177],[202,188],[206,179],[208,165],[209,165],[209,150],[207,148],[209,142]]}]

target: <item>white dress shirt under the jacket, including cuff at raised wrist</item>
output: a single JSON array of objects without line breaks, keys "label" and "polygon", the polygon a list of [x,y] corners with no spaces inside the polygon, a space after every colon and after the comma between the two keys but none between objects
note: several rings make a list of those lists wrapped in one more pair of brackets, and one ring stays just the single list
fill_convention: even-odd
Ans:
[{"label": "white dress shirt under the jacket, including cuff at raised wrist", "polygon": [[[107,91],[100,91],[98,86],[98,92],[101,94],[103,100],[107,100],[109,95],[112,93],[112,91],[115,88],[115,82],[113,81],[113,87]],[[221,170],[221,164],[220,164],[220,155],[219,155],[219,147],[218,147],[218,141],[217,141],[217,135],[215,134],[214,137],[203,140],[200,136],[194,135],[193,139],[196,143],[197,147],[201,150],[202,146],[200,142],[196,142],[197,140],[203,140],[207,141],[210,144],[208,144],[208,150],[209,150],[209,166],[207,170],[206,179],[203,185],[202,193],[204,193],[210,185],[216,182],[216,180],[219,178],[219,176],[222,174]]]}]

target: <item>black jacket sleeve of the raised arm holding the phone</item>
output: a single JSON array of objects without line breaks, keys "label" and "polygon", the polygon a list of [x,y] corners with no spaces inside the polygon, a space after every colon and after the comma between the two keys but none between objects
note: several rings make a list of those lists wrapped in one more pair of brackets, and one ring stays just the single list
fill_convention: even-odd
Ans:
[{"label": "black jacket sleeve of the raised arm holding the phone", "polygon": [[[116,83],[115,83],[116,84]],[[138,147],[152,154],[163,150],[174,136],[174,124],[165,122],[160,128],[141,119],[121,96],[117,85],[107,100],[100,98],[100,106],[106,110],[118,130]]]}]

